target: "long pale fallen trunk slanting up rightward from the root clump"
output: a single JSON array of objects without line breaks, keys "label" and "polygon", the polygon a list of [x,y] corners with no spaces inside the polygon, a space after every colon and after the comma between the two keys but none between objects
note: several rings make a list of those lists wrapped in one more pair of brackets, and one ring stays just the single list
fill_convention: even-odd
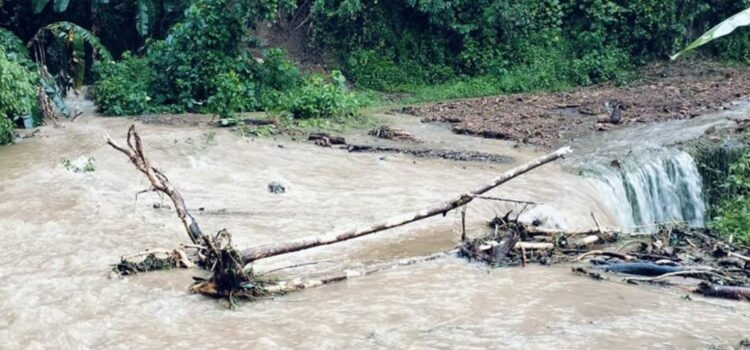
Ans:
[{"label": "long pale fallen trunk slanting up rightward from the root clump", "polygon": [[521,174],[525,174],[532,169],[535,169],[541,165],[557,160],[558,158],[561,158],[570,152],[572,152],[570,147],[560,148],[555,152],[546,154],[542,157],[539,157],[528,163],[525,163],[519,167],[511,169],[505,172],[504,174],[500,175],[499,177],[493,179],[489,183],[479,186],[472,191],[464,193],[447,202],[436,204],[431,207],[425,208],[414,214],[401,215],[401,216],[391,218],[389,220],[386,220],[385,222],[382,222],[376,225],[372,225],[372,226],[364,227],[360,229],[354,229],[350,231],[345,231],[342,233],[329,233],[329,234],[320,235],[320,236],[300,238],[300,239],[296,239],[296,240],[284,242],[284,243],[272,243],[272,244],[261,245],[258,247],[243,250],[242,257],[245,260],[245,262],[251,262],[254,260],[263,259],[263,258],[267,258],[271,256],[296,252],[296,251],[300,251],[304,249],[309,249],[309,248],[318,247],[322,245],[342,242],[342,241],[346,241],[346,240],[357,238],[357,237],[362,237],[362,236],[369,235],[375,232],[380,232],[380,231],[388,230],[394,227],[403,226],[408,223],[426,219],[426,218],[429,218],[438,214],[445,215],[450,210],[453,210],[453,209],[456,209],[458,207],[468,204],[469,202],[474,200],[474,198],[476,198],[477,196],[484,194],[492,190],[493,188],[500,186],[501,184],[506,183],[509,180]]}]

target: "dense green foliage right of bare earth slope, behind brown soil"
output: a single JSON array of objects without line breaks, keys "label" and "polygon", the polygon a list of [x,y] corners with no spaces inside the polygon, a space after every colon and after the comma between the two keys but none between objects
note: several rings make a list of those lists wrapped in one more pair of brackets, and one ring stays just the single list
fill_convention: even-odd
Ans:
[{"label": "dense green foliage right of bare earth slope, behind brown soil", "polygon": [[[467,92],[497,93],[622,79],[634,64],[666,57],[747,6],[705,0],[317,0],[312,15],[315,45],[333,52],[359,86],[414,91],[456,76],[483,76],[490,84]],[[746,60],[747,33],[720,43],[733,47],[724,55]]]}]

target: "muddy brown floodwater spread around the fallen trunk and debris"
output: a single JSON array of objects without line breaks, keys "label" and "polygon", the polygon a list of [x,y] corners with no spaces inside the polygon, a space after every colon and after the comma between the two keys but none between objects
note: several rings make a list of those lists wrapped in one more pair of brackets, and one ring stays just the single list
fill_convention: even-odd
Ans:
[{"label": "muddy brown floodwater spread around the fallen trunk and debris", "polygon": [[[389,117],[396,118],[396,117]],[[404,155],[348,154],[286,139],[241,138],[226,130],[138,125],[147,155],[182,191],[206,232],[227,228],[237,246],[284,241],[372,223],[474,188],[539,153],[497,140],[452,135],[404,122],[435,148],[514,158],[458,163]],[[187,292],[197,271],[108,278],[109,264],[144,248],[175,247],[186,236],[105,133],[122,140],[125,119],[82,117],[65,128],[0,149],[0,348],[704,348],[750,336],[750,305],[655,288],[602,283],[568,267],[487,270],[445,258],[287,296],[243,303]],[[215,135],[212,134],[215,132]],[[213,135],[213,136],[212,136]],[[352,136],[365,138],[365,136]],[[281,145],[281,147],[279,147]],[[421,145],[420,147],[424,147]],[[442,146],[442,147],[437,147]],[[74,173],[61,159],[91,156]],[[278,181],[287,193],[266,186]],[[590,227],[599,210],[588,182],[552,164],[494,195],[545,203],[538,214]],[[469,232],[511,207],[475,201]],[[552,210],[554,208],[554,210]],[[339,245],[260,262],[262,271],[339,270],[453,247],[459,217],[416,223]]]}]

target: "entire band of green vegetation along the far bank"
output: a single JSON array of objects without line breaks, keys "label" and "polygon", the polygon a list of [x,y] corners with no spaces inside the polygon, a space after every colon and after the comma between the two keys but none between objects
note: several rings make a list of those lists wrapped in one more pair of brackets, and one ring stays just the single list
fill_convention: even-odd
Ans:
[{"label": "entire band of green vegetation along the far bank", "polygon": [[[298,124],[347,123],[374,94],[350,91],[344,76],[360,91],[396,93],[407,103],[626,83],[638,65],[668,57],[692,33],[747,6],[747,0],[0,1],[8,18],[0,24],[0,45],[7,60],[35,71],[31,49],[51,73],[43,83],[50,97],[92,83],[107,115],[201,112],[232,124],[236,113],[266,111]],[[309,51],[320,53],[330,75],[301,71],[254,36],[258,25],[295,18],[305,18],[294,30],[307,33]],[[705,52],[747,62],[748,35],[739,28]],[[53,101],[64,110],[59,98]]]}]

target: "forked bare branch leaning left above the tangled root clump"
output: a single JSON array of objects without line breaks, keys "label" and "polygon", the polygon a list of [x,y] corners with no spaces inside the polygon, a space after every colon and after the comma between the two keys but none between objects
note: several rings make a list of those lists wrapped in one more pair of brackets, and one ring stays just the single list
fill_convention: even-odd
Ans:
[{"label": "forked bare branch leaning left above the tangled root clump", "polygon": [[177,216],[185,226],[185,231],[190,237],[190,240],[192,240],[193,243],[200,243],[203,233],[201,232],[198,223],[188,212],[182,194],[175,190],[167,176],[157,167],[152,165],[144,155],[143,143],[141,142],[141,137],[135,131],[135,125],[131,125],[130,128],[128,128],[127,148],[120,146],[109,136],[106,137],[106,141],[107,144],[112,146],[112,148],[122,152],[130,158],[130,161],[135,165],[135,168],[146,175],[154,190],[162,192],[172,199],[172,203],[177,210]]}]

